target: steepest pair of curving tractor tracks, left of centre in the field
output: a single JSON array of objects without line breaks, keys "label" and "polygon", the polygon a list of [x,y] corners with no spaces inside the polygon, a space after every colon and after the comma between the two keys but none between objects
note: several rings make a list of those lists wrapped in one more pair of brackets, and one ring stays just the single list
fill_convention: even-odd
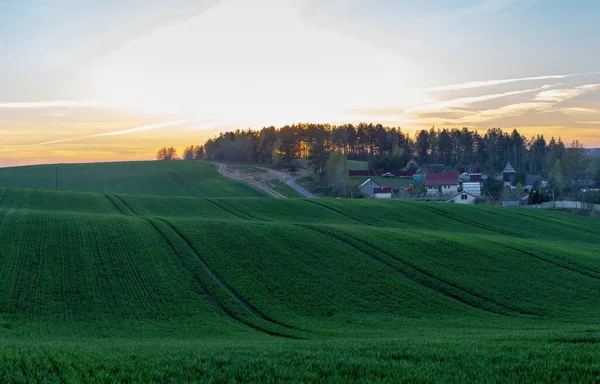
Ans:
[{"label": "steepest pair of curving tractor tracks, left of centre in the field", "polygon": [[[163,232],[163,230],[161,230],[158,225],[156,225],[156,223],[145,216],[140,216],[138,215],[135,210],[133,208],[131,208],[131,206],[129,204],[127,204],[127,202],[125,200],[123,200],[121,197],[117,196],[117,195],[113,195],[116,199],[118,199],[126,208],[127,210],[129,210],[129,213],[126,212],[125,210],[123,210],[122,208],[120,208],[113,200],[111,200],[108,195],[105,195],[110,201],[111,203],[113,203],[113,205],[115,206],[115,208],[117,210],[119,210],[119,212],[121,212],[124,215],[127,216],[135,216],[141,219],[146,220],[148,223],[150,223],[150,225],[155,229],[156,232],[158,232],[161,237],[167,242],[167,245],[169,245],[169,248],[171,249],[171,253],[177,258],[177,260],[180,262],[180,264],[186,269],[186,271],[188,272],[188,274],[192,277],[192,279],[196,282],[197,285],[199,285],[202,290],[204,291],[204,293],[210,298],[210,300],[217,305],[226,315],[228,315],[229,317],[231,317],[232,319],[250,327],[253,328],[257,331],[269,334],[271,336],[278,336],[278,337],[283,337],[283,338],[288,338],[288,339],[302,339],[300,337],[297,336],[290,336],[290,335],[286,335],[284,333],[281,332],[276,332],[276,331],[272,331],[269,329],[264,329],[261,328],[259,326],[256,326],[242,318],[240,318],[239,316],[237,316],[235,313],[233,313],[232,311],[230,311],[229,309],[227,309],[223,303],[221,303],[215,296],[214,294],[212,294],[212,292],[210,292],[210,290],[208,289],[208,287],[192,272],[192,270],[188,267],[188,265],[185,263],[185,261],[183,261],[183,259],[181,258],[181,255],[179,253],[179,251],[177,251],[177,248],[175,247],[175,245],[173,244],[173,242],[171,241],[171,239],[169,239],[169,237]],[[155,218],[155,220],[160,221],[161,223],[163,223],[165,226],[167,226],[167,228],[169,228],[170,231],[172,231],[175,235],[177,235],[177,237],[179,237],[179,239],[181,241],[183,241],[183,243],[186,245],[186,247],[188,248],[188,251],[191,252],[196,259],[198,260],[198,262],[202,265],[202,267],[206,270],[206,272],[213,278],[213,280],[215,281],[215,283],[223,290],[225,291],[229,296],[231,296],[246,312],[248,312],[250,315],[255,316],[256,318],[263,320],[265,322],[271,323],[273,325],[276,326],[280,326],[283,328],[287,328],[289,330],[295,330],[295,331],[301,331],[300,329],[281,323],[277,320],[274,320],[268,316],[266,316],[265,314],[263,314],[261,311],[259,311],[258,309],[256,309],[254,306],[252,306],[251,304],[249,304],[242,296],[240,296],[237,292],[235,292],[235,290],[233,290],[233,288],[231,288],[229,286],[229,284],[227,284],[224,280],[222,280],[217,273],[212,269],[212,267],[198,254],[198,252],[196,252],[196,250],[194,249],[194,247],[192,246],[192,244],[190,243],[190,241],[179,232],[179,230],[177,230],[171,223],[169,223],[167,220],[164,219],[159,219],[159,218]]]}]

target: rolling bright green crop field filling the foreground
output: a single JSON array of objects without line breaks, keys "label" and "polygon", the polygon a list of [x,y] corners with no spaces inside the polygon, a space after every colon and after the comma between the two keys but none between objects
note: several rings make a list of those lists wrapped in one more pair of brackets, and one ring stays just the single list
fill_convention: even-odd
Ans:
[{"label": "rolling bright green crop field filling the foreground", "polygon": [[598,220],[78,180],[0,187],[6,382],[600,380]]}]

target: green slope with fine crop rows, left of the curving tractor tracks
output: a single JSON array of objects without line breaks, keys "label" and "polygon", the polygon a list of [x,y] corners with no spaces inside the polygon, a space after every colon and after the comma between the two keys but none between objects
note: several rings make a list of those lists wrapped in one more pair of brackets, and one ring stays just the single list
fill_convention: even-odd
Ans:
[{"label": "green slope with fine crop rows, left of the curving tractor tracks", "polygon": [[148,223],[11,211],[0,233],[0,316],[11,322],[222,317]]}]

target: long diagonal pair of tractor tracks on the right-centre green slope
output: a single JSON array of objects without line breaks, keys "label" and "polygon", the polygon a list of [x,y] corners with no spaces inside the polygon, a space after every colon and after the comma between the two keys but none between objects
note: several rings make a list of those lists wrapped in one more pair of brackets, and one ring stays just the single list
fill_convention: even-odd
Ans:
[{"label": "long diagonal pair of tractor tracks on the right-centre green slope", "polygon": [[[443,296],[446,296],[446,297],[454,299],[454,300],[456,300],[458,302],[461,302],[461,303],[463,303],[463,304],[465,304],[465,305],[467,305],[467,306],[469,306],[471,308],[474,308],[474,309],[477,309],[477,310],[482,310],[482,311],[489,312],[489,313],[493,313],[493,314],[496,314],[496,315],[501,315],[501,316],[511,316],[511,313],[512,313],[512,315],[517,315],[517,316],[528,316],[528,317],[531,317],[531,316],[536,316],[536,317],[540,316],[537,313],[524,312],[524,311],[516,309],[516,308],[511,308],[511,307],[508,307],[508,306],[506,306],[504,304],[498,303],[498,302],[496,302],[496,301],[494,301],[492,299],[489,299],[487,297],[483,297],[483,296],[481,296],[481,295],[479,295],[477,293],[470,292],[470,291],[468,291],[468,290],[466,290],[466,289],[464,289],[462,287],[459,287],[458,285],[456,285],[454,283],[451,283],[451,282],[448,282],[448,281],[446,281],[444,279],[441,279],[439,277],[433,276],[429,272],[427,272],[427,271],[425,271],[425,270],[423,270],[421,268],[418,268],[418,267],[412,265],[409,262],[406,262],[406,261],[403,261],[403,260],[399,260],[398,258],[396,258],[393,255],[389,254],[388,252],[380,249],[379,247],[374,246],[372,244],[369,244],[369,243],[367,243],[367,242],[365,242],[365,241],[363,241],[361,239],[358,239],[358,238],[356,238],[356,237],[354,237],[352,235],[343,234],[343,236],[347,236],[350,239],[352,239],[352,240],[354,240],[354,241],[356,241],[358,243],[361,243],[361,244],[363,244],[364,246],[366,246],[368,248],[374,249],[375,251],[377,251],[377,252],[379,252],[381,254],[386,255],[387,257],[391,258],[395,262],[397,262],[397,263],[399,263],[401,265],[404,265],[405,267],[408,267],[409,269],[412,269],[412,270],[416,271],[417,274],[421,274],[421,275],[425,276],[425,278],[423,278],[423,277],[419,278],[418,276],[412,276],[411,274],[407,273],[406,271],[402,270],[401,268],[398,268],[398,267],[395,267],[395,266],[391,265],[390,263],[386,262],[385,260],[382,260],[380,257],[374,255],[372,252],[365,251],[364,249],[362,249],[358,245],[349,242],[343,236],[340,236],[340,235],[338,235],[336,233],[331,233],[331,232],[328,232],[328,231],[322,231],[322,230],[319,230],[319,229],[317,229],[315,227],[312,227],[312,226],[301,225],[301,227],[313,230],[313,231],[315,231],[317,233],[320,233],[320,234],[323,234],[323,235],[328,236],[330,238],[333,238],[333,239],[337,240],[338,242],[346,244],[346,245],[348,245],[348,246],[356,249],[361,254],[363,254],[363,255],[365,255],[365,256],[367,256],[367,257],[369,257],[369,258],[371,258],[371,259],[373,259],[373,260],[375,260],[375,261],[377,261],[377,262],[385,265],[386,267],[392,269],[393,271],[395,271],[396,273],[400,274],[405,279],[410,280],[410,281],[416,283],[417,285],[420,285],[420,286],[422,286],[424,288],[427,288],[427,289],[429,289],[431,291],[434,291],[434,292],[436,292],[438,294],[441,294]],[[492,309],[492,308],[482,307],[481,305],[478,305],[477,303],[473,303],[472,301],[469,301],[469,300],[467,300],[467,299],[465,299],[465,298],[463,298],[463,297],[461,297],[461,296],[459,296],[459,295],[457,295],[455,293],[449,292],[448,289],[444,289],[443,287],[435,287],[434,284],[428,283],[427,280],[430,280],[430,281],[433,281],[433,282],[437,282],[438,284],[440,284],[442,286],[445,285],[447,287],[450,287],[450,289],[457,290],[458,292],[461,292],[462,294],[464,294],[466,296],[471,296],[471,297],[475,298],[475,300],[477,300],[477,301],[482,301],[484,303],[487,303],[487,304],[491,305],[492,307],[496,307],[496,308],[499,308],[499,309]]]}]

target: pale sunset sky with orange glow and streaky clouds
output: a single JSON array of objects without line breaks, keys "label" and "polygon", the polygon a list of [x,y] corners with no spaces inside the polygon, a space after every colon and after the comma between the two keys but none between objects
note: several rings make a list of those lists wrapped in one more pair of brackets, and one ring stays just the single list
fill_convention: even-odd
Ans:
[{"label": "pale sunset sky with orange glow and streaky clouds", "polygon": [[0,166],[298,122],[600,147],[596,0],[0,0]]}]

